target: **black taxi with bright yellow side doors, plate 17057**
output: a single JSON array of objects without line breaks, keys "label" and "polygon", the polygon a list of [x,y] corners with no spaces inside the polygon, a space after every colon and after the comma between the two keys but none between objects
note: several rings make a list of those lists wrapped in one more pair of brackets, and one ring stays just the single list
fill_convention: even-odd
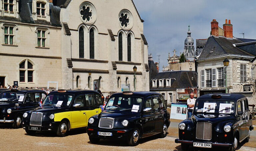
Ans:
[{"label": "black taxi with bright yellow side doors, plate 17057", "polygon": [[88,119],[101,112],[102,105],[103,100],[96,91],[53,91],[42,107],[23,114],[23,129],[30,135],[36,131],[53,131],[66,136],[71,129],[85,128]]}]

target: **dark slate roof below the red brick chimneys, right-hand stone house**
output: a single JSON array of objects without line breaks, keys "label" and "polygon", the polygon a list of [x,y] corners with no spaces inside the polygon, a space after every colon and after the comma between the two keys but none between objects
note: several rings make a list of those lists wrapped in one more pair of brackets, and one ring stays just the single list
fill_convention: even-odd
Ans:
[{"label": "dark slate roof below the red brick chimneys, right-hand stone house", "polygon": [[[235,47],[233,44],[242,43],[240,39],[229,39],[225,37],[214,37],[208,38],[203,51],[201,52],[198,59],[212,58],[222,56],[226,54],[242,55],[242,56],[254,56],[246,50]],[[211,52],[212,51],[212,52]]]}]

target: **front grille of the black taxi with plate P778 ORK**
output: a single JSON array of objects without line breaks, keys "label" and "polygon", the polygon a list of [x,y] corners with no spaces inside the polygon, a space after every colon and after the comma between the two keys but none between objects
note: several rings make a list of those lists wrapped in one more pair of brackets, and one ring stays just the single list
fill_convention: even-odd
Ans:
[{"label": "front grille of the black taxi with plate P778 ORK", "polygon": [[200,122],[196,124],[196,138],[203,140],[212,139],[212,124],[207,122]]}]

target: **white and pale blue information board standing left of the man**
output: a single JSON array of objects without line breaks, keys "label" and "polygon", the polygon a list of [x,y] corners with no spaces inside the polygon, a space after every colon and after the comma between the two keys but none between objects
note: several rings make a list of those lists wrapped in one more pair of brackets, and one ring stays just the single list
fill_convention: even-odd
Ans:
[{"label": "white and pale blue information board standing left of the man", "polygon": [[171,119],[186,119],[187,118],[187,104],[172,103]]}]

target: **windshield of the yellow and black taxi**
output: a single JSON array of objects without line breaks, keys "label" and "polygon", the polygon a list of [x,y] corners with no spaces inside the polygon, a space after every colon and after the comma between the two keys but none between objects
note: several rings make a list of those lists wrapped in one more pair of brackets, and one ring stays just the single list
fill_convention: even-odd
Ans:
[{"label": "windshield of the yellow and black taxi", "polygon": [[71,104],[73,95],[70,94],[49,94],[43,102],[43,106],[68,107]]}]

